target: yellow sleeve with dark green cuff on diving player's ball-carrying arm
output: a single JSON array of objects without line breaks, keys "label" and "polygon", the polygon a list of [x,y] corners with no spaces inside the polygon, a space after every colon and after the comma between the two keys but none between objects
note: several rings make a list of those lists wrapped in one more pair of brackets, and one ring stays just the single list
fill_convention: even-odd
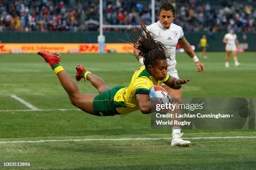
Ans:
[{"label": "yellow sleeve with dark green cuff on diving player's ball-carrying arm", "polygon": [[134,90],[136,95],[148,95],[151,87],[151,82],[146,76],[138,77],[134,82]]}]

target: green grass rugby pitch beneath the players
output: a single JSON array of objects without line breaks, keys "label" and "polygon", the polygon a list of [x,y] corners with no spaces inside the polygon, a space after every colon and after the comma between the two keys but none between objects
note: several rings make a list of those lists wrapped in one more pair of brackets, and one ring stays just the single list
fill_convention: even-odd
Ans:
[{"label": "green grass rugby pitch beneath the players", "polygon": [[[205,64],[205,73],[201,74],[186,54],[177,54],[179,77],[191,80],[182,87],[183,97],[256,97],[255,52],[239,53],[240,67],[235,67],[230,57],[229,68],[224,67],[224,52],[208,52],[207,56],[206,60],[200,59]],[[102,77],[110,87],[128,85],[140,66],[130,54],[62,54],[61,57],[61,65],[70,76],[74,77],[74,67],[79,63]],[[97,93],[89,82],[77,84],[81,92]],[[31,111],[10,95],[41,110]],[[151,129],[150,115],[133,112],[125,117],[96,117],[75,109],[40,56],[2,54],[0,170],[256,168],[256,138],[189,139],[192,142],[189,147],[171,147],[170,130]],[[245,129],[183,132],[184,138],[256,137],[256,130]],[[69,139],[77,141],[59,141]],[[38,140],[50,141],[7,142]],[[3,168],[4,162],[30,162],[31,167]]]}]

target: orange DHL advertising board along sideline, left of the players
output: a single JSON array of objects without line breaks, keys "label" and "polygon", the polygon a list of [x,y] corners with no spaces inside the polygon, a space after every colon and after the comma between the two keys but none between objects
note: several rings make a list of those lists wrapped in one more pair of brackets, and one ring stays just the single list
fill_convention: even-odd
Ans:
[{"label": "orange DHL advertising board along sideline, left of the players", "polygon": [[[1,43],[2,53],[10,53],[12,49],[20,49],[24,53],[36,53],[39,50],[50,52],[79,52],[79,53],[98,53],[97,43]],[[128,43],[105,43],[105,52],[115,50],[117,53],[133,53],[133,46]]]}]

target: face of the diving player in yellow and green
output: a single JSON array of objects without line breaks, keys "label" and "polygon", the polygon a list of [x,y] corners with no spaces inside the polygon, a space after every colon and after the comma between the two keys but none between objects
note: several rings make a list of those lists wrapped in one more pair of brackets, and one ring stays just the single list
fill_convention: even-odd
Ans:
[{"label": "face of the diving player in yellow and green", "polygon": [[151,72],[151,75],[158,81],[165,79],[167,75],[167,69],[167,60],[157,60],[155,65],[148,65],[148,70]]}]

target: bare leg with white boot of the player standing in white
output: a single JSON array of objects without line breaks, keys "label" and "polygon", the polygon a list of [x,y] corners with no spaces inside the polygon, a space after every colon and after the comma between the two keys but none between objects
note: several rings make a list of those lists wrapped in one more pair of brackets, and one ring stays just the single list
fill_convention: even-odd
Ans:
[{"label": "bare leg with white boot of the player standing in white", "polygon": [[[172,93],[174,95],[174,101],[173,103],[177,103],[177,104],[181,104],[181,97],[182,97],[182,90],[174,90],[170,87],[168,87],[167,85],[163,86],[164,89],[168,92],[168,93]],[[180,108],[174,108],[173,112],[174,114],[177,113],[177,115],[181,115],[181,109]],[[182,121],[182,119],[180,117],[173,117],[172,118],[172,122],[174,122],[174,120],[177,120],[178,122]],[[181,127],[180,125],[173,125],[172,126],[172,146],[189,146],[191,143],[189,140],[182,140],[181,136],[183,135],[183,133],[181,133]]]}]

